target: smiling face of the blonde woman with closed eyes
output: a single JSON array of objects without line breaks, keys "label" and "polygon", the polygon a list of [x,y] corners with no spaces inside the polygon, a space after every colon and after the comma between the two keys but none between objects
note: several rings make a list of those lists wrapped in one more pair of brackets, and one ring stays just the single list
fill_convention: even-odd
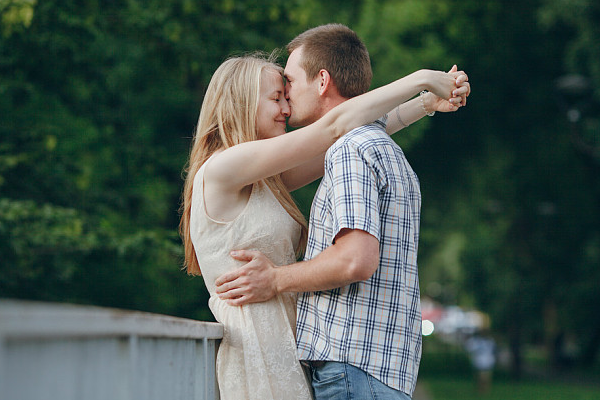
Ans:
[{"label": "smiling face of the blonde woman with closed eyes", "polygon": [[273,69],[263,69],[256,115],[259,139],[283,135],[286,128],[285,121],[289,116],[290,107],[285,99],[281,74]]}]

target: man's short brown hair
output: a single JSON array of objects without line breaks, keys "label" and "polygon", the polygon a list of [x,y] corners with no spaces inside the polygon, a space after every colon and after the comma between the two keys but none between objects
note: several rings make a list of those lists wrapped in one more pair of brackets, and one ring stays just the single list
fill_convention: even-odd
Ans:
[{"label": "man's short brown hair", "polygon": [[308,79],[315,79],[325,69],[343,97],[355,97],[369,90],[373,78],[369,52],[352,29],[341,24],[309,29],[287,45],[288,54],[301,46],[300,66]]}]

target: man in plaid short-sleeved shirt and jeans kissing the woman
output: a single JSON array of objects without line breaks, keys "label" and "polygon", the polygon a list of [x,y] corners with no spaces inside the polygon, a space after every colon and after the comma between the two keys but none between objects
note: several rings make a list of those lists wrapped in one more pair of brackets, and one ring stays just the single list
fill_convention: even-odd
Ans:
[{"label": "man in plaid short-sleeved shirt and jeans kissing the woman", "polygon": [[[345,26],[306,31],[288,52],[291,126],[316,121],[370,85],[368,52]],[[458,85],[449,101],[421,94],[405,103],[390,124],[401,128],[434,110],[454,111],[469,94],[466,75]],[[311,369],[317,399],[407,399],[416,383],[421,195],[386,119],[346,134],[327,152],[305,261],[275,268],[258,252],[237,251],[232,256],[249,263],[216,282],[232,305],[301,293],[298,355]]]}]

